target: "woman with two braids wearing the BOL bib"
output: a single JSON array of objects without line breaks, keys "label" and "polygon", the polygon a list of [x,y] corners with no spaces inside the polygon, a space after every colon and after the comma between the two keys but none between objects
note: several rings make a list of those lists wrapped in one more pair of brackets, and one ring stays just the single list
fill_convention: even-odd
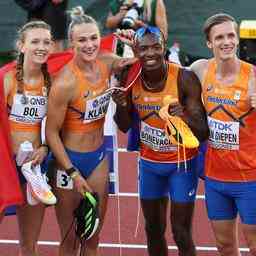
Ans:
[{"label": "woman with two braids wearing the BOL bib", "polygon": [[[4,92],[9,112],[12,150],[17,155],[20,145],[29,141],[33,151],[26,161],[32,165],[42,164],[48,148],[42,144],[41,122],[46,114],[47,96],[51,79],[47,71],[47,58],[52,47],[51,30],[42,21],[25,24],[18,33],[18,57],[16,65],[5,74]],[[23,192],[26,180],[17,166]],[[20,255],[35,256],[44,216],[45,205],[17,207],[20,235]]]}]

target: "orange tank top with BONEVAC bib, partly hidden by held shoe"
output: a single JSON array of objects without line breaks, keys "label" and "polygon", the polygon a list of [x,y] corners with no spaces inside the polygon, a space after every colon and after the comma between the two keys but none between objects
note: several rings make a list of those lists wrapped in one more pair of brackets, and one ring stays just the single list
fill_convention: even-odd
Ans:
[{"label": "orange tank top with BONEVAC bib, partly hidden by held shoe", "polygon": [[141,78],[138,78],[132,87],[132,103],[138,113],[140,123],[140,156],[142,159],[177,163],[191,159],[197,154],[197,149],[183,149],[183,147],[178,149],[177,146],[171,144],[165,133],[165,121],[158,115],[166,95],[178,98],[178,72],[179,66],[168,64],[168,77],[161,92],[145,90]]}]

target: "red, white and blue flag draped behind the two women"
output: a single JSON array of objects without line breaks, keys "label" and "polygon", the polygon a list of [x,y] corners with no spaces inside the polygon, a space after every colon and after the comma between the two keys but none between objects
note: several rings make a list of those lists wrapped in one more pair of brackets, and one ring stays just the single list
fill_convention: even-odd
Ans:
[{"label": "red, white and blue flag draped behind the two women", "polygon": [[[101,40],[101,50],[113,52],[115,48],[115,36],[110,34]],[[65,64],[73,58],[71,49],[64,52],[52,54],[48,59],[48,71],[50,74],[58,72]],[[15,67],[15,61],[0,68],[0,212],[12,205],[20,205],[23,201],[23,196],[20,189],[17,172],[13,162],[13,154],[11,151],[10,131],[7,117],[6,104],[4,102],[3,78],[4,75]],[[109,122],[113,123],[109,120]],[[115,138],[115,139],[114,139]],[[116,171],[116,157],[113,154],[113,146],[116,145],[116,136],[107,139],[108,154],[112,165],[112,172]],[[113,173],[110,177],[113,176]],[[111,186],[114,187],[114,186]],[[112,189],[111,189],[112,190]],[[114,192],[115,189],[112,190]],[[13,213],[13,210],[11,211]]]}]

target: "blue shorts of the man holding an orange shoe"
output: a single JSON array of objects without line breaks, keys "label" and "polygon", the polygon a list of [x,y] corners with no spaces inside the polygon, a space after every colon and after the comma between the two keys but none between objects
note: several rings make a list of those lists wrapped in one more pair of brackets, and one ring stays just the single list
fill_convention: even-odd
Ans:
[{"label": "blue shorts of the man holding an orange shoe", "polygon": [[196,197],[198,175],[197,159],[180,163],[155,163],[140,159],[139,192],[141,199],[157,199],[170,196],[174,202],[193,202]]}]

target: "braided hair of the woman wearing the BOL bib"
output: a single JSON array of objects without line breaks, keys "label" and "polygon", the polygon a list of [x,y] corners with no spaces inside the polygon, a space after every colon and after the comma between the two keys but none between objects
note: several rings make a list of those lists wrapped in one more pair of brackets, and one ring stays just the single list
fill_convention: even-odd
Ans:
[{"label": "braided hair of the woman wearing the BOL bib", "polygon": [[[35,29],[35,28],[42,28],[51,31],[51,27],[45,23],[44,21],[35,20],[26,23],[19,31],[18,31],[18,41],[24,43],[26,38],[26,32]],[[24,93],[24,82],[23,82],[23,63],[24,63],[24,53],[18,51],[17,55],[17,64],[16,64],[16,74],[15,78],[17,80],[17,93],[23,94]],[[47,94],[49,93],[49,89],[51,87],[51,78],[48,72],[47,63],[44,63],[41,67],[41,71],[44,77],[44,85],[47,88]]]}]

